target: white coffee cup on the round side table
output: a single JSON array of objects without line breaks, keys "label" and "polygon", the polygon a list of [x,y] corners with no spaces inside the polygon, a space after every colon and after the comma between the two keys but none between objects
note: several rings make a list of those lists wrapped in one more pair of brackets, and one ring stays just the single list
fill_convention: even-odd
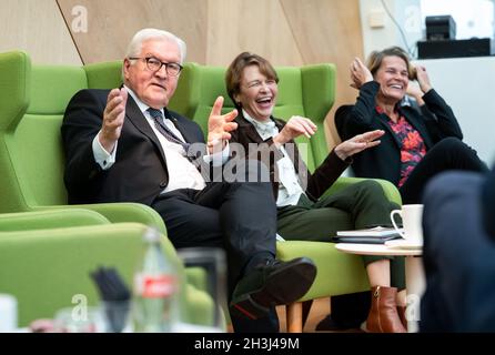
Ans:
[{"label": "white coffee cup on the round side table", "polygon": [[[401,231],[395,223],[395,215],[402,217],[403,230]],[[394,229],[407,242],[422,245],[423,244],[423,205],[422,204],[404,204],[402,210],[394,210],[391,212],[391,221]]]}]

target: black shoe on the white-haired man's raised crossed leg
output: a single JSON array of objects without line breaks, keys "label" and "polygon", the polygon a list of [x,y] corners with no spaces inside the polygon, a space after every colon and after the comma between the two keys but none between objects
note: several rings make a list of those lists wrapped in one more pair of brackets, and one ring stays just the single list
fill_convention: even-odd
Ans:
[{"label": "black shoe on the white-haired man's raised crossed leg", "polygon": [[307,257],[290,262],[267,261],[245,275],[235,286],[230,303],[231,314],[257,320],[270,307],[291,304],[310,290],[316,277],[316,266]]}]

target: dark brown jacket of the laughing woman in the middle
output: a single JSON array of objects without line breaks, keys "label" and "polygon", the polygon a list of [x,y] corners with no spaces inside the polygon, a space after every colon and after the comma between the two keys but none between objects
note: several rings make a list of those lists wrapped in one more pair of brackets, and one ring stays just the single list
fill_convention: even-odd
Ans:
[{"label": "dark brown jacket of the laughing woman in the middle", "polygon": [[[279,129],[279,132],[282,131],[285,122],[282,120],[273,119],[275,125]],[[231,143],[240,143],[244,148],[244,150],[249,151],[249,144],[259,144],[259,151],[266,150],[265,153],[262,153],[262,156],[270,156],[270,162],[264,162],[265,165],[270,169],[270,180],[273,186],[273,194],[275,200],[279,195],[279,179],[277,179],[277,169],[275,169],[275,162],[283,158],[280,150],[275,148],[273,144],[273,139],[267,139],[263,141],[260,134],[257,134],[256,129],[253,124],[251,124],[248,120],[242,116],[242,113],[235,119],[238,123],[238,129],[232,132]],[[294,163],[295,172],[297,173],[300,181],[303,182],[303,189],[305,187],[305,192],[310,199],[316,201],[334,182],[342,172],[348,166],[347,162],[343,162],[334,151],[332,151],[329,156],[326,156],[325,161],[316,168],[313,174],[310,173],[303,160],[300,156],[297,145],[294,141],[290,141],[284,144],[285,150],[289,158]],[[254,159],[257,159],[254,158]],[[304,182],[307,182],[305,184]]]}]

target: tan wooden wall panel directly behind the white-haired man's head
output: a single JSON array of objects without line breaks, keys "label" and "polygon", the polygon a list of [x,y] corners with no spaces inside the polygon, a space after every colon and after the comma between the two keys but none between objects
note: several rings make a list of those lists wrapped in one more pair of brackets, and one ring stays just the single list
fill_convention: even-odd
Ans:
[{"label": "tan wooden wall panel directly behind the white-haired man's head", "polygon": [[65,21],[72,9],[88,10],[88,31],[73,33],[84,63],[122,59],[132,36],[142,28],[173,32],[188,43],[188,61],[205,62],[206,7],[204,0],[58,0]]}]

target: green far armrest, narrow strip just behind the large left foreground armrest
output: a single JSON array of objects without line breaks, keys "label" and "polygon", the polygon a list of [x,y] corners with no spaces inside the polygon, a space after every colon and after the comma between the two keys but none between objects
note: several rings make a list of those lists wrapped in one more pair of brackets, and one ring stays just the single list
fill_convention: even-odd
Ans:
[{"label": "green far armrest, narrow strip just behind the large left foreground armrest", "polygon": [[82,209],[0,214],[0,232],[47,230],[109,223],[110,221],[100,213]]}]

